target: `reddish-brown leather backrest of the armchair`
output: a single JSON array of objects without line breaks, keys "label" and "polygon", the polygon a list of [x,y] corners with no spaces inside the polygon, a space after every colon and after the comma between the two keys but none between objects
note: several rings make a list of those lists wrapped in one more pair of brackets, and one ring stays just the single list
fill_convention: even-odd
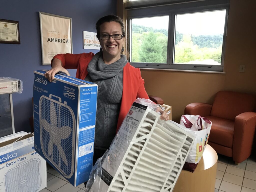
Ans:
[{"label": "reddish-brown leather backrest of the armchair", "polygon": [[219,91],[212,104],[211,116],[234,121],[236,116],[255,110],[255,95],[233,91]]}]

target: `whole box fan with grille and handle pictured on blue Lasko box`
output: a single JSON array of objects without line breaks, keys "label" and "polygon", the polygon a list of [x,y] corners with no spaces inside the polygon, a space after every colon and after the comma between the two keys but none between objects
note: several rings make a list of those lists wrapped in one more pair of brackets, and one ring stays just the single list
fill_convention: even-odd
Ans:
[{"label": "whole box fan with grille and handle pictured on blue Lasko box", "polygon": [[[58,98],[59,101],[52,98]],[[64,177],[70,178],[75,157],[74,113],[67,102],[61,103],[61,99],[54,95],[50,95],[50,98],[41,96],[39,111],[42,152]]]}]

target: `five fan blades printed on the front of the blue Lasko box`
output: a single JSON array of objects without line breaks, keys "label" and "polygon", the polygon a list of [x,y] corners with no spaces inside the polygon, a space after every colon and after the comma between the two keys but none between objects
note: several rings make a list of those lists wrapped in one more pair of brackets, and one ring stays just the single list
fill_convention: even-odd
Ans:
[{"label": "five fan blades printed on the front of the blue Lasko box", "polygon": [[50,134],[50,141],[48,143],[48,155],[49,156],[52,155],[53,145],[55,144],[60,152],[60,156],[63,159],[64,163],[68,165],[65,152],[61,147],[60,143],[61,143],[61,139],[66,139],[69,137],[72,129],[69,126],[58,127],[56,125],[57,124],[56,122],[58,121],[58,119],[57,119],[57,113],[56,113],[53,102],[51,102],[51,107],[50,107],[50,121],[51,121],[51,124],[49,124],[45,119],[41,120],[42,126]]}]

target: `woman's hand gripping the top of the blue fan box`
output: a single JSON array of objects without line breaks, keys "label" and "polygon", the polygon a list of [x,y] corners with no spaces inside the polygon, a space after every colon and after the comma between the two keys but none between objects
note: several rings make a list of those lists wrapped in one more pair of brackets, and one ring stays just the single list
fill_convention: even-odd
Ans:
[{"label": "woman's hand gripping the top of the blue fan box", "polygon": [[54,80],[55,74],[60,71],[65,73],[67,76],[70,76],[68,70],[62,67],[61,60],[55,58],[52,61],[52,68],[45,73],[45,78],[47,78],[51,82],[52,80]]}]

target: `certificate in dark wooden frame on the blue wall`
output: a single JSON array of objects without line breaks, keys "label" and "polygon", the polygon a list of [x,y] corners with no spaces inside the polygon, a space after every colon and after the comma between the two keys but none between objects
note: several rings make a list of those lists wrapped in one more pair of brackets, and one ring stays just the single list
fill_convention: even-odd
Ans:
[{"label": "certificate in dark wooden frame on the blue wall", "polygon": [[0,19],[0,43],[20,44],[18,21]]}]

